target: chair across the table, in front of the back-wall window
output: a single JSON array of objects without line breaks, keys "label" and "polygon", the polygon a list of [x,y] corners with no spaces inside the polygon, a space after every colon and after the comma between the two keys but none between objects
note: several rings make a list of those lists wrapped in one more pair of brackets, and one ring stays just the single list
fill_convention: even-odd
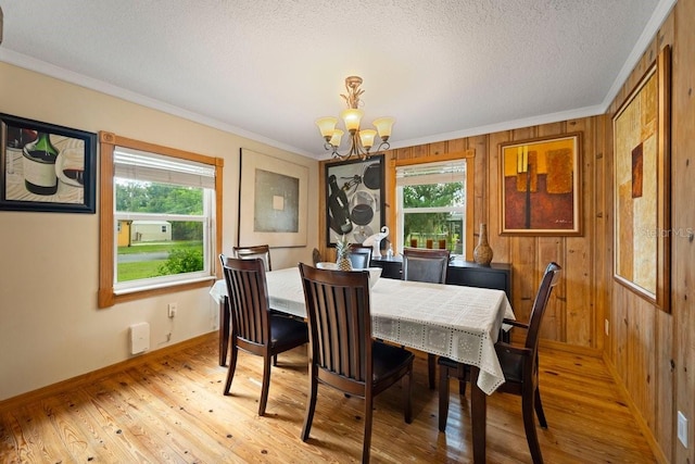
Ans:
[{"label": "chair across the table, in front of the back-wall window", "polygon": [[[403,249],[403,280],[444,284],[448,268],[448,250]],[[437,355],[427,354],[427,376],[430,389],[435,387]]]}]

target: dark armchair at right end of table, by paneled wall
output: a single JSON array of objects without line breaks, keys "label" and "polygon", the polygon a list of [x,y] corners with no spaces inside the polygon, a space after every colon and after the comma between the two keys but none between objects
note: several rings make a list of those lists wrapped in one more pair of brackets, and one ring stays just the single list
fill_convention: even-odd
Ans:
[{"label": "dark armchair at right end of table, by paneled wall", "polygon": [[[547,306],[553,287],[557,285],[561,267],[557,263],[549,263],[545,268],[543,278],[528,324],[517,321],[504,319],[506,324],[526,329],[526,340],[523,346],[513,346],[504,341],[495,343],[495,351],[504,372],[505,383],[497,387],[498,392],[511,393],[521,397],[521,413],[523,416],[523,428],[526,439],[531,451],[531,459],[535,464],[543,463],[539,438],[535,431],[533,412],[539,417],[541,427],[547,428],[541,393],[539,390],[539,333],[541,321]],[[439,384],[439,429],[444,431],[446,418],[448,416],[448,379],[456,378],[459,381],[470,380],[470,368],[447,358],[440,358],[440,384]]]}]

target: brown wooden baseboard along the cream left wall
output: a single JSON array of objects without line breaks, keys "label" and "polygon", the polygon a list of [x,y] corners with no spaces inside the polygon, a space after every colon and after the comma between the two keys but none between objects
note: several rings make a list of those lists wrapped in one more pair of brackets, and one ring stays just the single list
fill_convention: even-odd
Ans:
[{"label": "brown wooden baseboard along the cream left wall", "polygon": [[144,353],[139,356],[131,358],[129,360],[122,361],[116,364],[112,364],[106,367],[102,367],[97,371],[89,372],[87,374],[78,375],[76,377],[68,378],[66,380],[59,381],[56,384],[49,385],[47,387],[39,388],[37,390],[27,391],[26,393],[18,394],[16,397],[9,398],[0,401],[0,413],[9,410],[16,409],[29,402],[39,401],[42,398],[53,396],[58,392],[78,388],[83,385],[94,381],[98,378],[102,378],[131,367],[142,365],[147,362],[167,356],[174,352],[194,347],[208,341],[210,339],[217,338],[217,330],[204,334],[198,337],[189,338],[179,343],[172,344],[170,347],[162,348],[150,353]]}]

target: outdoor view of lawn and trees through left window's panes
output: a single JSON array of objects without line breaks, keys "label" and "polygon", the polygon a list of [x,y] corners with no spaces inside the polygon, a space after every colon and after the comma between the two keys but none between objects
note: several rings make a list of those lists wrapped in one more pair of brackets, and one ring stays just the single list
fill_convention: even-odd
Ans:
[{"label": "outdoor view of lawn and trees through left window's panes", "polygon": [[204,189],[116,179],[117,278],[203,271]]}]

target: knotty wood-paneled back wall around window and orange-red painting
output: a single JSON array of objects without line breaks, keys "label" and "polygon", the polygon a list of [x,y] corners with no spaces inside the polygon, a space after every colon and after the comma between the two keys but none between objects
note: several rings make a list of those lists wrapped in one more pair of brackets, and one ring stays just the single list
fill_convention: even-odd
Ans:
[{"label": "knotty wood-paneled back wall around window and orange-red painting", "polygon": [[[395,231],[396,162],[415,160],[433,162],[450,158],[452,153],[473,154],[473,188],[469,205],[473,209],[472,224],[468,226],[467,243],[478,241],[478,225],[488,224],[489,241],[494,251],[494,262],[511,263],[515,314],[519,319],[529,317],[533,298],[543,271],[551,261],[563,268],[563,279],[553,292],[552,301],[543,323],[542,336],[549,340],[598,349],[603,339],[596,336],[596,327],[603,328],[605,291],[601,284],[605,278],[605,260],[597,246],[605,237],[605,215],[597,209],[604,204],[603,193],[596,201],[596,191],[603,192],[604,116],[586,117],[561,123],[545,124],[516,130],[506,130],[462,139],[407,147],[387,152],[387,217],[388,226]],[[581,237],[509,237],[500,235],[500,143],[568,133],[581,136]],[[596,153],[599,153],[597,156]],[[319,167],[324,173],[326,162]],[[323,177],[323,175],[321,175]],[[325,185],[321,185],[325,191]],[[323,196],[325,197],[325,196]],[[325,210],[325,203],[321,204]],[[325,214],[320,217],[320,230],[325,230]],[[319,234],[324,237],[323,233]],[[598,242],[596,240],[599,240]],[[333,259],[333,251],[321,243],[324,259]],[[469,254],[468,259],[472,259]],[[601,323],[599,323],[601,322]]]}]

